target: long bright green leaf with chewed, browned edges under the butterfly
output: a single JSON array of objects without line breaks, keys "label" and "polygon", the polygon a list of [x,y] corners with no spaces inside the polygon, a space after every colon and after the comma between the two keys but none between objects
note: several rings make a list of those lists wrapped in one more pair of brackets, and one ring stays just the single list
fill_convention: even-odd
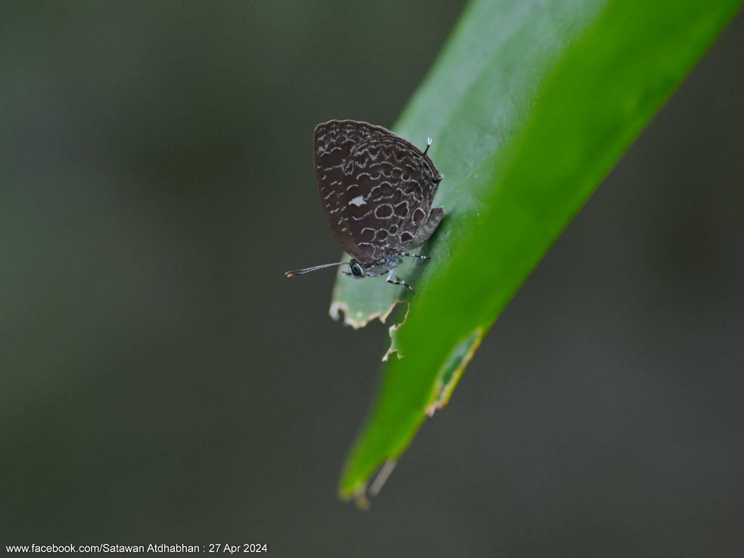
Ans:
[{"label": "long bright green leaf with chewed, browned edges under the butterfly", "polygon": [[[447,403],[484,333],[741,3],[469,5],[396,126],[420,146],[434,138],[447,217],[425,247],[432,260],[398,269],[416,292],[341,497],[365,501],[376,469],[387,462],[388,475]],[[384,278],[341,277],[331,312],[359,326],[401,294]]]}]

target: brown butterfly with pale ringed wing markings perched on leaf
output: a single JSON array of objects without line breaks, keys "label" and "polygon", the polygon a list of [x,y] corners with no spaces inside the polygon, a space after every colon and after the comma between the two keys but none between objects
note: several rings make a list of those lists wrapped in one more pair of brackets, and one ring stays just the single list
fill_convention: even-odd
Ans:
[{"label": "brown butterfly with pale ringed wing markings perched on leaf", "polygon": [[445,215],[432,208],[443,176],[426,153],[382,126],[332,120],[315,127],[315,178],[328,223],[348,262],[286,272],[304,275],[348,266],[355,279],[388,273],[394,285],[413,287],[395,275],[409,250],[429,240]]}]

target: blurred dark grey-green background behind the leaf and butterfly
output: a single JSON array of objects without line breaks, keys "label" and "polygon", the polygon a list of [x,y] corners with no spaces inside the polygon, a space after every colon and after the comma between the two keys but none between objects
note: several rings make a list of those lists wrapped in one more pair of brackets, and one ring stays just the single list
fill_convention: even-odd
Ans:
[{"label": "blurred dark grey-green background behind the leaf and butterfly", "polygon": [[391,126],[460,9],[3,4],[2,548],[744,553],[741,15],[372,509],[337,501],[386,331],[283,278],[339,254],[312,129]]}]

